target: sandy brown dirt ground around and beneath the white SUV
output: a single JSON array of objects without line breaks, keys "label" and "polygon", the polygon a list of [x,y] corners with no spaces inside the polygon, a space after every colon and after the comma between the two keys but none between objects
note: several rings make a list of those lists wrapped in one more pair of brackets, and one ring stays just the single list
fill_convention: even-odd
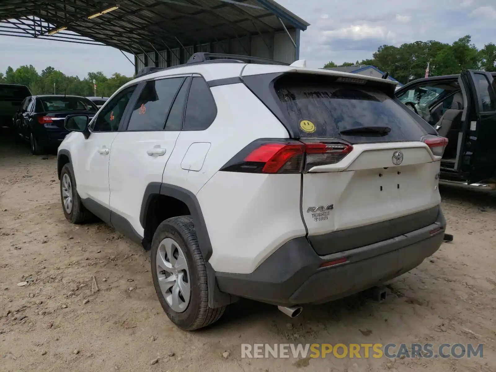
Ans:
[{"label": "sandy brown dirt ground around and beneath the white SUV", "polygon": [[[56,156],[0,138],[0,370],[494,372],[496,194],[441,194],[453,243],[393,280],[384,303],[359,294],[290,319],[241,301],[188,333],[162,311],[142,248],[103,223],[65,220]],[[294,342],[483,343],[484,358],[241,358],[242,343]]]}]

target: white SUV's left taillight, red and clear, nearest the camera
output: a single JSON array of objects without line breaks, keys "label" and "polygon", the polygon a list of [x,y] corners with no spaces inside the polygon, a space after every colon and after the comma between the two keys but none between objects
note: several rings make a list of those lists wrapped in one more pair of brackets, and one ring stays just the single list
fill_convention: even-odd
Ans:
[{"label": "white SUV's left taillight, red and clear, nearest the camera", "polygon": [[256,140],[234,156],[222,171],[301,173],[319,165],[335,164],[353,150],[345,143]]}]

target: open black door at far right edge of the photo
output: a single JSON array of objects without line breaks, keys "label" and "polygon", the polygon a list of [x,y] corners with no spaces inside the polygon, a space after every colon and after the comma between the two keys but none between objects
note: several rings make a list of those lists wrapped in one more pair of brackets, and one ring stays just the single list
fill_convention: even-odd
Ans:
[{"label": "open black door at far right edge of the photo", "polygon": [[462,78],[471,91],[470,127],[465,133],[464,163],[469,183],[496,182],[496,82],[490,72],[469,70]]}]

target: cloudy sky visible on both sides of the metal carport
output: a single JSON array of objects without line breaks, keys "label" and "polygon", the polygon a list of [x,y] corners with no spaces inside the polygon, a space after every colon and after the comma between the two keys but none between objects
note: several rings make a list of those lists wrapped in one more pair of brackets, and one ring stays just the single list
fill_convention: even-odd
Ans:
[{"label": "cloudy sky visible on both sides of the metal carport", "polygon": [[[382,44],[417,40],[451,43],[470,34],[478,48],[496,43],[495,0],[277,0],[311,25],[302,34],[300,56],[309,66],[372,58]],[[51,65],[68,75],[88,71],[132,75],[118,50],[0,36],[0,71],[8,65]]]}]

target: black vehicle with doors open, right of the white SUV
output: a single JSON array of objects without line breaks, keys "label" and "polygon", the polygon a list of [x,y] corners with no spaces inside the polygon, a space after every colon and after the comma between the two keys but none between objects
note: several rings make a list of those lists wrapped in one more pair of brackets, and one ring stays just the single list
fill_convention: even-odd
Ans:
[{"label": "black vehicle with doors open, right of the white SUV", "polygon": [[418,79],[395,94],[448,138],[442,180],[496,184],[496,72]]}]

